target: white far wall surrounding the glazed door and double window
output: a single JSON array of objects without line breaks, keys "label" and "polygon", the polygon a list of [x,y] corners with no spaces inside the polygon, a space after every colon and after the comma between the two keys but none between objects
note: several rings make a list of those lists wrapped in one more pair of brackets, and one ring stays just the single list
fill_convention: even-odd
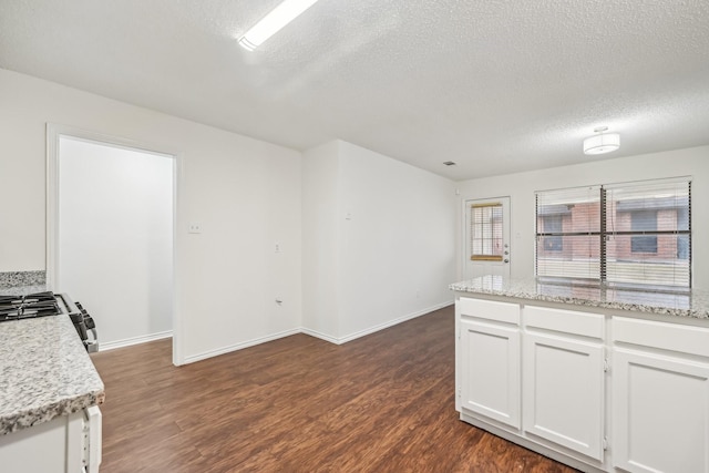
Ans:
[{"label": "white far wall surrounding the glazed door and double window", "polygon": [[458,218],[458,277],[462,271],[462,204],[469,198],[511,197],[511,274],[534,276],[534,192],[590,184],[610,184],[661,177],[692,176],[693,287],[709,285],[709,146],[645,154],[527,173],[456,183],[461,192]]}]

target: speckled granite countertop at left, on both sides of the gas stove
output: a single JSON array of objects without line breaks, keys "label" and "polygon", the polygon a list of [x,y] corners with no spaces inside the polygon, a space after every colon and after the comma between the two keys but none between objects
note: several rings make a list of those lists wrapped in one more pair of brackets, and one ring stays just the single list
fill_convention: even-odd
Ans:
[{"label": "speckled granite countertop at left, on both sides of the gas stove", "polygon": [[[29,285],[0,294],[42,290]],[[0,435],[103,402],[103,381],[68,316],[0,322]]]}]

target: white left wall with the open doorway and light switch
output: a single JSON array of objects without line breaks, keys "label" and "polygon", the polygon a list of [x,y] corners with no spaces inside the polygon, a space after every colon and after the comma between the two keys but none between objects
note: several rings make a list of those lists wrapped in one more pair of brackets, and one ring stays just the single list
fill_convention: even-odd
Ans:
[{"label": "white left wall with the open doorway and light switch", "polygon": [[[187,361],[299,329],[300,153],[7,70],[0,104],[0,175],[11,176],[0,186],[0,271],[45,269],[45,125],[58,123],[179,155],[176,329]],[[187,234],[188,222],[203,234]]]}]

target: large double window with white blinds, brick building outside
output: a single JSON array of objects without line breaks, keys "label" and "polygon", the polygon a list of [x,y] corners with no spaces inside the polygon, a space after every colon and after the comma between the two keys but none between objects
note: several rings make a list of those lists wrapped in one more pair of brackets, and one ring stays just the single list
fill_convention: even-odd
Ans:
[{"label": "large double window with white blinds, brick building outside", "polygon": [[691,287],[689,178],[536,193],[536,275]]}]

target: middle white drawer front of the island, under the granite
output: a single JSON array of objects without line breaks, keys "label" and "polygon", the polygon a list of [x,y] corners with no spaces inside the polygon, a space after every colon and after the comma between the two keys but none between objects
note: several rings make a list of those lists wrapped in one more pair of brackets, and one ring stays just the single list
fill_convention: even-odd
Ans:
[{"label": "middle white drawer front of the island, under the granite", "polygon": [[540,328],[603,339],[604,320],[605,317],[598,313],[536,306],[524,307],[524,325],[527,328]]}]

